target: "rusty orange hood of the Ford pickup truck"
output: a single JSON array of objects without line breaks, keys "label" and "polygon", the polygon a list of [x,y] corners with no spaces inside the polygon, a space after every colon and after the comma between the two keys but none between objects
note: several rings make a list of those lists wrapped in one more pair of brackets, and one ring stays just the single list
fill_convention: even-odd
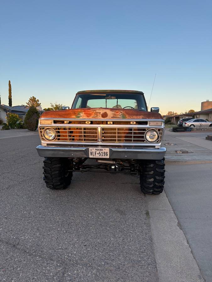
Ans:
[{"label": "rusty orange hood of the Ford pickup truck", "polygon": [[114,109],[114,108],[81,108],[63,111],[46,111],[42,113],[41,118],[106,118],[106,119],[162,119],[157,112],[143,112],[132,109]]}]

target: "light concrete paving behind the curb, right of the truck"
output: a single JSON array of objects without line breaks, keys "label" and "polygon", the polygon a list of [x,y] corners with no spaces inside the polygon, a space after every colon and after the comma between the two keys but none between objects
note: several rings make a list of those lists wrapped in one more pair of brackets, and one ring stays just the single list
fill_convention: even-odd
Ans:
[{"label": "light concrete paving behind the curb, right of the truck", "polygon": [[[212,160],[212,142],[206,140],[208,132],[171,132],[165,130],[163,146],[167,160]],[[177,154],[176,151],[188,153]]]}]

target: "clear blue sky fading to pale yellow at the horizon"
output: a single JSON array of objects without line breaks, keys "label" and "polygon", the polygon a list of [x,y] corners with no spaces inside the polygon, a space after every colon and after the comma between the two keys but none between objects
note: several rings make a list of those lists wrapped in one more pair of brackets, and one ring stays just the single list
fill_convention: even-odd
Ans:
[{"label": "clear blue sky fading to pale yellow at the horizon", "polygon": [[211,1],[0,3],[2,104],[8,80],[13,106],[71,106],[90,89],[143,91],[163,115],[212,100]]}]

